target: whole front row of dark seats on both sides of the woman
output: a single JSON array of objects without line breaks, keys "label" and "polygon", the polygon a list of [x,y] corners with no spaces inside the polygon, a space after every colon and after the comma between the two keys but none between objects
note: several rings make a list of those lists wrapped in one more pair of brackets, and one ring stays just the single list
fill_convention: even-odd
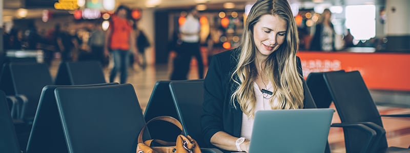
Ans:
[{"label": "whole front row of dark seats on both sides of the woman", "polygon": [[[407,148],[387,148],[380,114],[358,71],[311,73],[303,87],[305,108],[328,108],[334,101],[342,123],[332,126],[343,127],[347,152],[409,151]],[[145,121],[163,115],[179,119],[183,134],[191,135],[201,147],[209,147],[203,145],[200,134],[201,111],[198,110],[202,110],[202,103],[202,80],[157,82],[144,115],[134,88],[129,84],[47,86],[38,103],[26,150],[109,152],[118,148],[115,152],[133,152],[140,127]],[[146,139],[175,141],[175,136],[181,133],[166,122],[153,122],[148,129]],[[209,148],[203,150],[218,152]],[[329,145],[326,152],[330,152]]]}]

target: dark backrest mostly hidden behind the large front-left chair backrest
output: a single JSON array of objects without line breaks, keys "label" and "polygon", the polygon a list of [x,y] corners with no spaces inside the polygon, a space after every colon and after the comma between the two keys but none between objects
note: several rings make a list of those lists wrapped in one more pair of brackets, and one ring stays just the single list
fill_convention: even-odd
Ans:
[{"label": "dark backrest mostly hidden behind the large front-left chair backrest", "polygon": [[68,152],[54,96],[57,87],[109,86],[118,83],[83,86],[46,86],[43,88],[31,127],[26,152]]}]

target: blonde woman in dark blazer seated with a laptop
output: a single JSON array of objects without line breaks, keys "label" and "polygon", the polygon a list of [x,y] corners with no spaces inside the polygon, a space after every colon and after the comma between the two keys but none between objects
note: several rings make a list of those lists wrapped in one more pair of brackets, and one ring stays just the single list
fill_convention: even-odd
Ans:
[{"label": "blonde woman in dark blazer seated with a laptop", "polygon": [[208,145],[248,151],[258,110],[301,109],[298,34],[286,0],[258,0],[239,48],[214,55],[204,80],[202,133]]}]

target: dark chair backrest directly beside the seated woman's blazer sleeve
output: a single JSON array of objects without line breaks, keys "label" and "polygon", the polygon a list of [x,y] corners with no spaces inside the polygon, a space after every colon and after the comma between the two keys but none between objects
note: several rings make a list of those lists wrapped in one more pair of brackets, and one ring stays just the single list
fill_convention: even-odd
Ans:
[{"label": "dark chair backrest directly beside the seated woman's blazer sleeve", "polygon": [[203,81],[171,82],[169,88],[183,127],[183,133],[190,135],[202,147],[205,145],[200,126],[203,104]]}]

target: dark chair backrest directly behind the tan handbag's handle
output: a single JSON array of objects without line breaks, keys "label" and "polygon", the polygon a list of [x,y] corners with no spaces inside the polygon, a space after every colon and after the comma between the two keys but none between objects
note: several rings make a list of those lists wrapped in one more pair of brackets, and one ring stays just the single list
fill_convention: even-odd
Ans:
[{"label": "dark chair backrest directly behind the tan handbag's handle", "polygon": [[[157,116],[172,116],[178,119],[169,87],[170,82],[157,81],[155,83],[144,113],[146,121]],[[181,130],[178,127],[165,121],[151,122],[148,125],[148,130],[152,139],[164,141],[175,141],[176,136],[181,134]]]}]

